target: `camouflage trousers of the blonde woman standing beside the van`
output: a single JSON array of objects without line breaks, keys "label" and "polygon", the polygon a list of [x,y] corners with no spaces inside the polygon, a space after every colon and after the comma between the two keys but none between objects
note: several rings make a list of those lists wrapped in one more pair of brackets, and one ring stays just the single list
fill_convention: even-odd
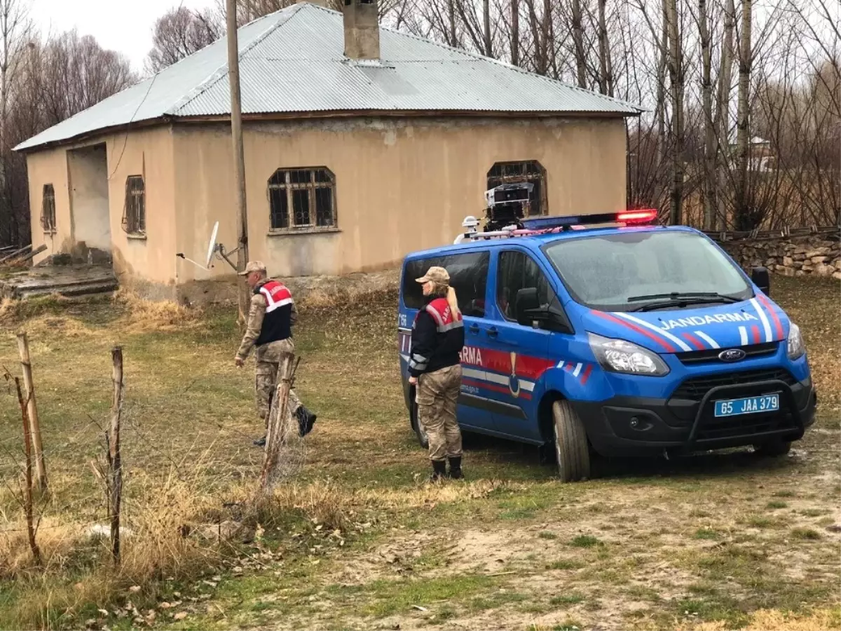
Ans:
[{"label": "camouflage trousers of the blonde woman standing beside the van", "polygon": [[416,401],[418,418],[429,437],[429,458],[443,460],[462,455],[462,432],[456,422],[456,404],[462,385],[460,364],[421,374]]}]

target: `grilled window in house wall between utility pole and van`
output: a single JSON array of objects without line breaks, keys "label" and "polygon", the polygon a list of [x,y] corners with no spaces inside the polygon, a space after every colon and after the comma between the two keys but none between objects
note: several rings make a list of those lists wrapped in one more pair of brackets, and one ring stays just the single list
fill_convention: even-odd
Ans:
[{"label": "grilled window in house wall between utility pole and van", "polygon": [[278,169],[268,181],[272,230],[336,225],[336,176],[325,167]]}]

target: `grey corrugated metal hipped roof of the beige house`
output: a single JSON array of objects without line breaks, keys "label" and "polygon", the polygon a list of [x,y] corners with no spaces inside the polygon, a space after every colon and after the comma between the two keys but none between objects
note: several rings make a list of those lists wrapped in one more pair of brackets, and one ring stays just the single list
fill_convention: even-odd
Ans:
[{"label": "grey corrugated metal hipped roof of the beige house", "polygon": [[[243,114],[441,111],[634,115],[629,103],[392,29],[378,64],[344,56],[341,13],[295,4],[239,30]],[[230,114],[225,39],[50,127],[16,150],[163,116]]]}]

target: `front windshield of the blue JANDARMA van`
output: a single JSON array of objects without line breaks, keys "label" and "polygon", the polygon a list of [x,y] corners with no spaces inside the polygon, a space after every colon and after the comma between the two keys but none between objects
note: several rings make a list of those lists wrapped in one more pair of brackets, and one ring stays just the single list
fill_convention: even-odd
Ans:
[{"label": "front windshield of the blue JANDARMA van", "polygon": [[754,297],[742,273],[705,237],[629,231],[556,241],[545,248],[576,302],[605,311],[674,308],[676,302]]}]

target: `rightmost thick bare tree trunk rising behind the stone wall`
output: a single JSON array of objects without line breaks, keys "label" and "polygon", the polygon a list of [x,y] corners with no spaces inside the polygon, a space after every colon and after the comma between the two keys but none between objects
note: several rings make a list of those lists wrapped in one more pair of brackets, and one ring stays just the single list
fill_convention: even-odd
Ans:
[{"label": "rightmost thick bare tree trunk rising behind the stone wall", "polygon": [[738,113],[736,151],[738,172],[736,173],[736,230],[751,230],[754,220],[751,217],[748,200],[748,160],[750,158],[750,112],[748,111],[748,93],[750,91],[750,71],[753,65],[751,46],[751,27],[753,25],[753,0],[742,0],[742,32],[739,34],[738,56]]}]

